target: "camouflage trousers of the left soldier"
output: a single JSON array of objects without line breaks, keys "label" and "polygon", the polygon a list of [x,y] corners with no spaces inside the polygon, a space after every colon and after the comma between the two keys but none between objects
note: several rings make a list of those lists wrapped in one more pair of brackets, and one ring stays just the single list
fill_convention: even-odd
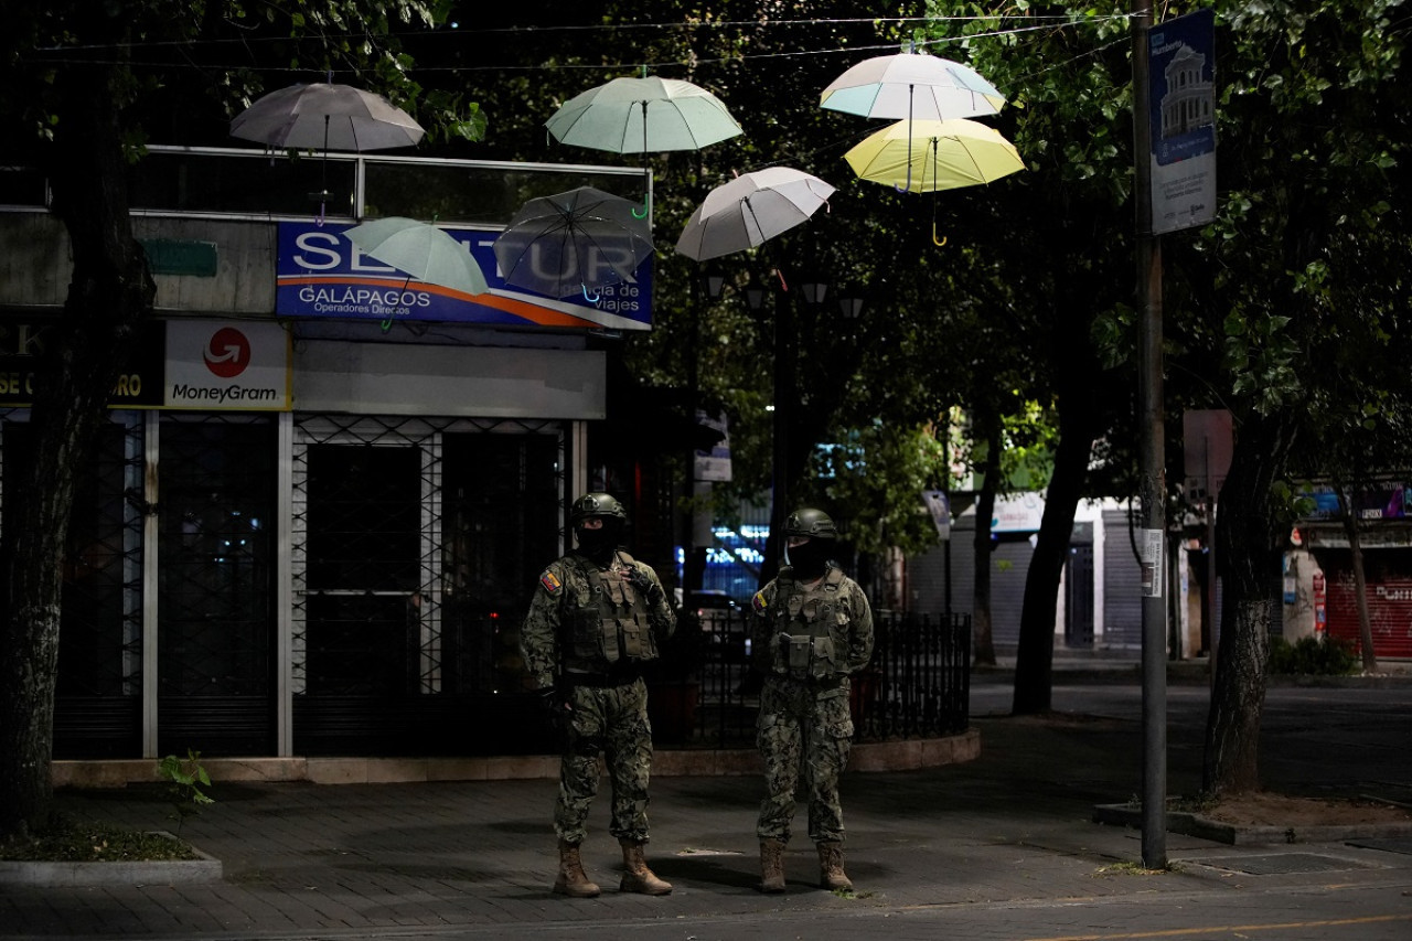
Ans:
[{"label": "camouflage trousers of the left soldier", "polygon": [[609,832],[647,842],[647,779],[652,770],[652,726],[647,721],[647,685],[575,687],[573,723],[559,762],[559,800],[554,832],[568,844],[583,842],[585,819],[599,793],[599,753],[607,759],[613,786]]}]

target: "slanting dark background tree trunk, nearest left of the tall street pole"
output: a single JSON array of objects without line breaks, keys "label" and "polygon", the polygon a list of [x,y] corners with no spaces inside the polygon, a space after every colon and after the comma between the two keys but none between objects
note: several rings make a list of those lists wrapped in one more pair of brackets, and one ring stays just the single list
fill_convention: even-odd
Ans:
[{"label": "slanting dark background tree trunk, nearest left of the tall street pole", "polygon": [[1059,612],[1059,579],[1069,558],[1073,517],[1083,496],[1093,452],[1093,396],[1059,398],[1059,446],[1055,470],[1045,490],[1039,540],[1025,576],[1025,602],[1019,615],[1019,650],[1015,657],[1015,715],[1048,712],[1053,694],[1055,620]]}]

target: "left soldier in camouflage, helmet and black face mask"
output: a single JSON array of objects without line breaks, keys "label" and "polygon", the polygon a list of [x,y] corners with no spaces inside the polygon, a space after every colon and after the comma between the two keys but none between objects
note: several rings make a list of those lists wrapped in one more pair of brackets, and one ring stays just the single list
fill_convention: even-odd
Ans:
[{"label": "left soldier in camouflage, helmet and black face mask", "polygon": [[562,733],[559,873],[554,892],[599,894],[583,872],[579,844],[599,790],[599,753],[613,783],[610,832],[623,846],[621,892],[664,896],[672,886],[647,868],[647,781],[652,729],[647,721],[642,667],[671,637],[676,616],[657,572],[618,548],[627,513],[607,493],[573,502],[569,521],[578,548],[539,576],[520,632],[534,688]]}]

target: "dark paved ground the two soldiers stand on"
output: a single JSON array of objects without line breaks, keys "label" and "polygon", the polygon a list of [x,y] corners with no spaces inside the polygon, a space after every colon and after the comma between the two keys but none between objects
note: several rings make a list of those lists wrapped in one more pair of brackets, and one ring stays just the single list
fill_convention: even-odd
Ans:
[{"label": "dark paved ground the two soldiers stand on", "polygon": [[[1169,692],[1168,793],[1193,794],[1207,691],[1189,682]],[[0,938],[530,937],[562,930],[686,941],[796,937],[786,930],[799,925],[812,938],[843,938],[894,925],[904,937],[907,925],[921,930],[925,918],[943,917],[964,917],[971,938],[1077,938],[1100,935],[1065,934],[1060,925],[1091,906],[1139,904],[1148,928],[1176,930],[1193,911],[1223,907],[1247,918],[1264,913],[1274,924],[1288,917],[1281,913],[1291,899],[1324,906],[1329,916],[1319,924],[1358,923],[1360,934],[1326,928],[1265,937],[1412,933],[1412,832],[1254,846],[1168,834],[1175,869],[1134,872],[1141,834],[1093,819],[1097,805],[1141,793],[1135,682],[1063,671],[1055,684],[1058,712],[1041,718],[1008,716],[1008,694],[1004,671],[976,675],[976,760],[844,777],[851,897],[815,887],[803,808],[786,853],[788,893],[754,892],[761,781],[753,776],[652,781],[648,859],[675,884],[657,899],[616,892],[620,855],[607,834],[604,780],[583,845],[585,865],[604,889],[592,900],[549,893],[556,862],[549,824],[556,784],[549,780],[217,781],[216,804],[189,819],[182,836],[222,860],[223,879],[0,886]],[[1274,790],[1412,800],[1412,682],[1275,687],[1262,728],[1262,769]],[[128,827],[174,827],[169,805],[145,786],[64,791],[59,804]],[[1385,934],[1365,930],[1370,918]],[[1034,931],[1015,934],[1019,923]],[[935,935],[928,928],[905,937]]]}]

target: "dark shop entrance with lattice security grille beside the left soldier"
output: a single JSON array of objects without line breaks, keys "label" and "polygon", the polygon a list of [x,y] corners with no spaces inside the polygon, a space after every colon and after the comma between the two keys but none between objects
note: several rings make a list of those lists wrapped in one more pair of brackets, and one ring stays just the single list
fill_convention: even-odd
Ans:
[{"label": "dark shop entrance with lattice security grille beside the left soldier", "polygon": [[297,422],[297,752],[535,745],[515,626],[559,551],[565,448],[551,421]]}]

